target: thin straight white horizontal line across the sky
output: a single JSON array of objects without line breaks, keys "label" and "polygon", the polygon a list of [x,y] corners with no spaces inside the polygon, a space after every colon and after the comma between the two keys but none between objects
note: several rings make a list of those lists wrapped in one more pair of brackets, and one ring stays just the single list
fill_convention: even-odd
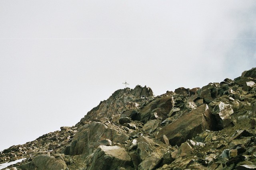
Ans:
[{"label": "thin straight white horizontal line across the sky", "polygon": [[256,38],[0,38],[0,39],[17,39],[17,40],[242,40]]}]

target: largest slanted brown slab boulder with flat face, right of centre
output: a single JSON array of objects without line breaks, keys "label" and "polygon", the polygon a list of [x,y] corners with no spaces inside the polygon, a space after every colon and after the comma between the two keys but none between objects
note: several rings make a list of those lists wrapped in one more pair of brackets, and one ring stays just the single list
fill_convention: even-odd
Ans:
[{"label": "largest slanted brown slab boulder with flat face, right of centre", "polygon": [[159,131],[157,138],[161,139],[163,135],[166,135],[170,145],[180,146],[187,139],[192,139],[198,133],[202,133],[206,129],[214,130],[214,128],[214,119],[205,104],[163,127]]}]

